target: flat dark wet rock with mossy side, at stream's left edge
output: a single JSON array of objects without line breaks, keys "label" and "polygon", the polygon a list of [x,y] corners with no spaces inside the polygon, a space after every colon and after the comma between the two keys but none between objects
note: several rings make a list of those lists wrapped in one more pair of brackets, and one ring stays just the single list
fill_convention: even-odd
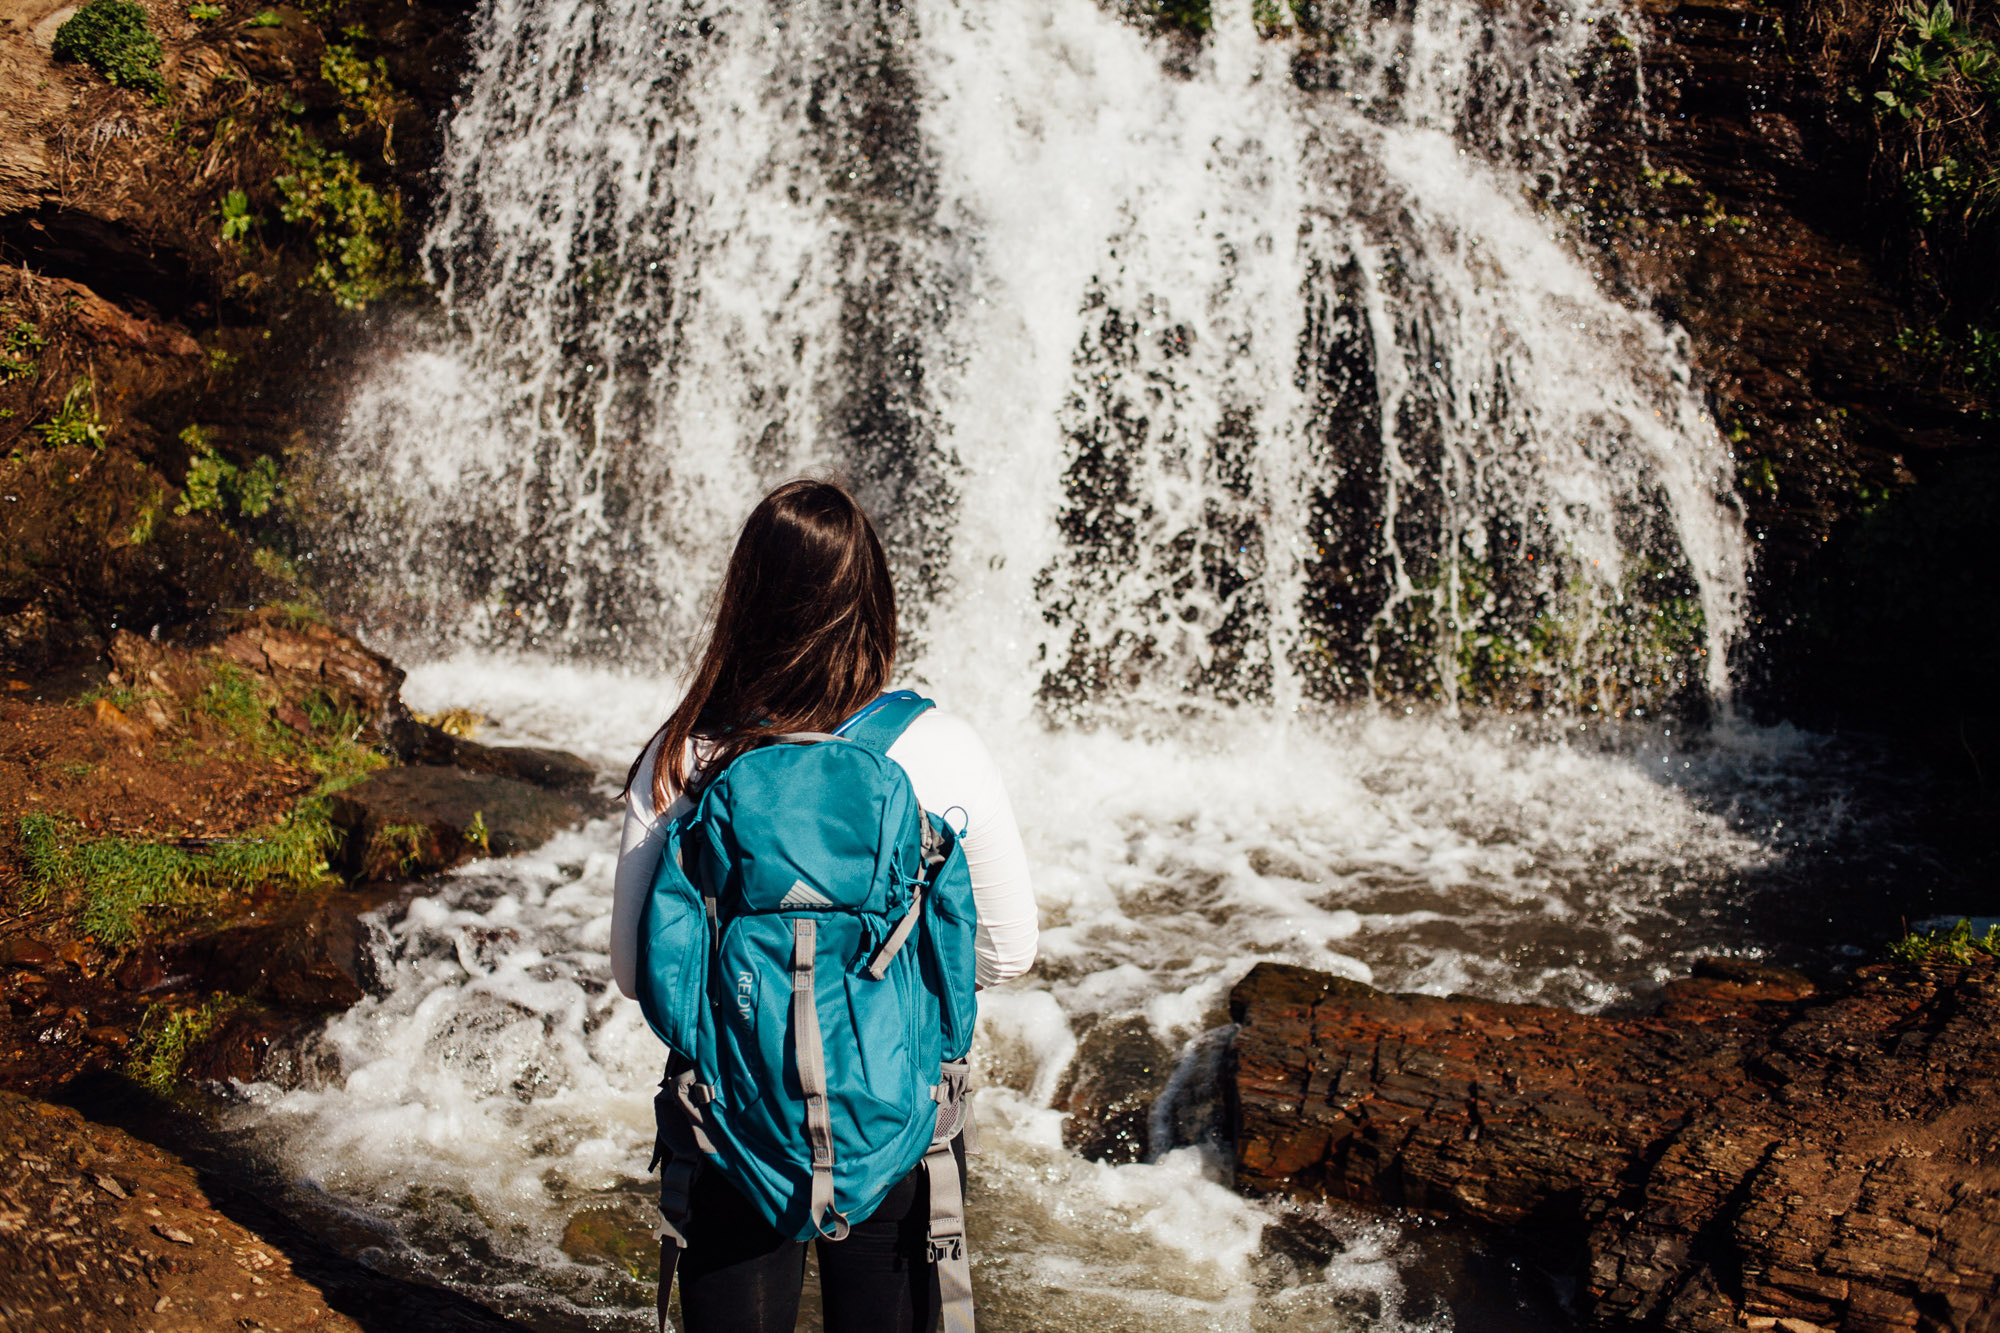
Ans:
[{"label": "flat dark wet rock with mossy side, at stream's left edge", "polygon": [[460,769],[390,769],[334,797],[342,867],[356,881],[434,875],[472,857],[540,847],[588,815],[582,801]]}]

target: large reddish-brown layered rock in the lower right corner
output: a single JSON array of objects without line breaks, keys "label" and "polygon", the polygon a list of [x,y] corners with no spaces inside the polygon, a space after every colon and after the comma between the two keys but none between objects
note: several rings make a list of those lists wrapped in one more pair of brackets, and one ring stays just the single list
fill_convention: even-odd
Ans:
[{"label": "large reddish-brown layered rock in the lower right corner", "polygon": [[1260,965],[1238,1185],[1528,1229],[1596,1327],[2000,1329],[2000,967],[1704,973],[1600,1019]]}]

